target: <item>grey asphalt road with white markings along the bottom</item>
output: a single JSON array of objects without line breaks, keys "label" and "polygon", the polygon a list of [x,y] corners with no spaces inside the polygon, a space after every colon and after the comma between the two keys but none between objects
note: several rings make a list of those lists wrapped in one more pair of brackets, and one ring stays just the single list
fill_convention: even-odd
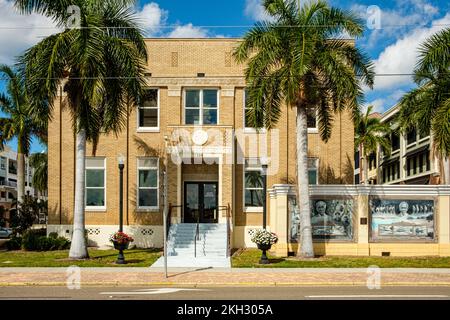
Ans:
[{"label": "grey asphalt road with white markings along the bottom", "polygon": [[450,287],[0,287],[0,300],[450,300]]}]

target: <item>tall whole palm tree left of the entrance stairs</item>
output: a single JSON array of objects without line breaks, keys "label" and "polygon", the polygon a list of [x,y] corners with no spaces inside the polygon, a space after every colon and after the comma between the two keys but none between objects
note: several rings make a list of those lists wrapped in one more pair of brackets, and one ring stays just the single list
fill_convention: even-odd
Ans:
[{"label": "tall whole palm tree left of the entrance stairs", "polygon": [[[21,58],[32,106],[51,115],[63,86],[76,132],[75,205],[69,257],[88,258],[85,240],[86,141],[93,153],[100,132],[118,133],[125,125],[127,103],[137,105],[147,60],[134,0],[16,0],[22,13],[40,13],[63,31],[26,51]],[[80,26],[68,28],[69,6],[80,9]],[[49,101],[48,110],[42,102]]]}]

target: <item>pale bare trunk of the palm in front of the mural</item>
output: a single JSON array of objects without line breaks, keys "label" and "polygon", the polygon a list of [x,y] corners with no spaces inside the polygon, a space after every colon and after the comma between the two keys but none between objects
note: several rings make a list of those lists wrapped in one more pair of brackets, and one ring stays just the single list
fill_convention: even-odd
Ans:
[{"label": "pale bare trunk of the palm in front of the mural", "polygon": [[297,199],[300,209],[300,234],[297,256],[314,257],[309,203],[308,126],[306,108],[297,105]]}]

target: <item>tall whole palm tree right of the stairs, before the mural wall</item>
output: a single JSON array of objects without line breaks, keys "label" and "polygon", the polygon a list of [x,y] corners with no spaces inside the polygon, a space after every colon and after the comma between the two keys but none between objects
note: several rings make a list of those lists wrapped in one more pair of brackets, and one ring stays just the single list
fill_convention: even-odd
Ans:
[{"label": "tall whole palm tree right of the stairs, before the mural wall", "polygon": [[[257,23],[234,56],[245,71],[250,120],[273,128],[284,106],[297,109],[297,197],[301,233],[298,256],[314,257],[308,186],[307,109],[317,111],[321,138],[331,135],[333,114],[348,108],[359,113],[361,83],[371,87],[370,60],[343,33],[361,36],[363,23],[351,12],[324,1],[303,6],[294,0],[264,0],[272,21]],[[355,74],[359,76],[356,80]]]}]

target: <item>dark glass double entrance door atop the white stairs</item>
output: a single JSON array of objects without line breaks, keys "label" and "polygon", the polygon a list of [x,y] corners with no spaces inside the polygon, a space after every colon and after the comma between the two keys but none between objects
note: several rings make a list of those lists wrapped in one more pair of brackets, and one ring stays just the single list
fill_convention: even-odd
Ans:
[{"label": "dark glass double entrance door atop the white stairs", "polygon": [[218,222],[217,182],[184,183],[184,222]]}]

